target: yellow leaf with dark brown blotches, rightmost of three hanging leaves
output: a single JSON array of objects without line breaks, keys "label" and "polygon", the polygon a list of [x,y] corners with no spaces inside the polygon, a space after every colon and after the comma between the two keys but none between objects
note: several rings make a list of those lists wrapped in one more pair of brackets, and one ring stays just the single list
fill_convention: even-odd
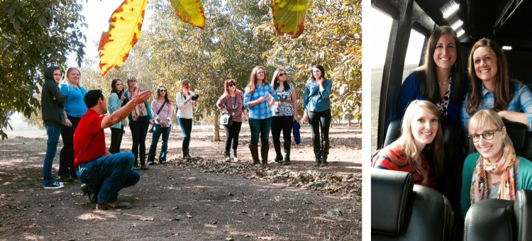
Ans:
[{"label": "yellow leaf with dark brown blotches, rightmost of three hanging leaves", "polygon": [[277,34],[298,38],[304,30],[309,0],[273,0],[273,25]]}]

